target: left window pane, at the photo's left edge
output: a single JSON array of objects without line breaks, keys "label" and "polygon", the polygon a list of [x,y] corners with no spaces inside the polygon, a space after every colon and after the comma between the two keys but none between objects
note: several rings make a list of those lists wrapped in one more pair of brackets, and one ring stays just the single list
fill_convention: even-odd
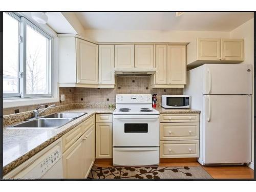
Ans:
[{"label": "left window pane, at the photo's left edge", "polygon": [[3,13],[3,92],[18,93],[19,21]]}]

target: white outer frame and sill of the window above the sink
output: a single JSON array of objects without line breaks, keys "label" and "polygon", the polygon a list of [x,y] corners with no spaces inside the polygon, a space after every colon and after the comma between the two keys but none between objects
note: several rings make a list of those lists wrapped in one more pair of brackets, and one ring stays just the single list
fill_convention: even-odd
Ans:
[{"label": "white outer frame and sill of the window above the sink", "polygon": [[[58,87],[58,36],[55,31],[53,31],[46,24],[38,24],[33,22],[33,19],[30,17],[29,12],[15,12],[9,13],[11,16],[16,16],[17,18],[23,17],[26,19],[29,24],[32,24],[37,29],[43,31],[45,34],[51,37],[51,96],[41,96],[35,97],[4,97],[3,108],[13,108],[17,106],[33,105],[33,104],[42,104],[49,102],[59,101],[59,87]],[[24,65],[19,65],[24,66]],[[19,69],[20,70],[20,69]],[[23,74],[23,76],[25,76]],[[30,96],[30,95],[27,95]]]}]

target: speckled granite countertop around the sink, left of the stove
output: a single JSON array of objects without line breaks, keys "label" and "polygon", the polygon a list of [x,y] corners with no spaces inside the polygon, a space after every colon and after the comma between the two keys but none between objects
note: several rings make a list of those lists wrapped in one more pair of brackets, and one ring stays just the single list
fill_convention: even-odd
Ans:
[{"label": "speckled granite countertop around the sink, left of the stove", "polygon": [[87,113],[58,129],[3,129],[3,175],[66,134],[96,113],[112,113],[115,108],[78,108],[62,112]]}]

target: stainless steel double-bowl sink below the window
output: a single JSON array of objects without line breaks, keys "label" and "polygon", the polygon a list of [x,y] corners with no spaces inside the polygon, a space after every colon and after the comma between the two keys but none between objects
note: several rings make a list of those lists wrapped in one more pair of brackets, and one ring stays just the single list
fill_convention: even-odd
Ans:
[{"label": "stainless steel double-bowl sink below the window", "polygon": [[8,129],[56,129],[87,113],[65,112],[32,118],[26,122],[7,127]]}]

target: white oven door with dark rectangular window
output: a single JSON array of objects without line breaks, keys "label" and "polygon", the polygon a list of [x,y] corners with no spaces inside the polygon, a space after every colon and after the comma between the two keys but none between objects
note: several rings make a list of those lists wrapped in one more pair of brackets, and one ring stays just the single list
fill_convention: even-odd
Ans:
[{"label": "white oven door with dark rectangular window", "polygon": [[113,146],[159,146],[159,115],[113,115]]}]

